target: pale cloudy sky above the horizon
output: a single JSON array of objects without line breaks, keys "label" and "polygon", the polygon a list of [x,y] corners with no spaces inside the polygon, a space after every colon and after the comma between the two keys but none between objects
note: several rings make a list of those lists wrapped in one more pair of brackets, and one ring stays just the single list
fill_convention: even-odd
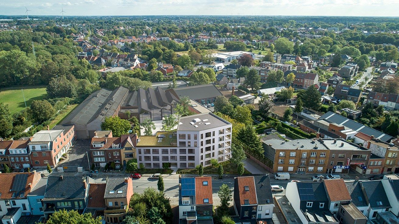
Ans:
[{"label": "pale cloudy sky above the horizon", "polygon": [[399,16],[399,0],[0,0],[0,15]]}]

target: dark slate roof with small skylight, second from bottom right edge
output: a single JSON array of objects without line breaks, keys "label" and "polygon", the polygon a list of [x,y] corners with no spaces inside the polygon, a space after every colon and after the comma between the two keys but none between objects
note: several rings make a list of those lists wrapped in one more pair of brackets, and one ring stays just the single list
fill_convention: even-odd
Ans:
[{"label": "dark slate roof with small skylight, second from bottom right edge", "polygon": [[[385,193],[381,180],[362,181],[361,185],[371,208],[391,208],[391,204],[389,204],[387,193]],[[377,202],[382,202],[382,204],[377,204]]]}]

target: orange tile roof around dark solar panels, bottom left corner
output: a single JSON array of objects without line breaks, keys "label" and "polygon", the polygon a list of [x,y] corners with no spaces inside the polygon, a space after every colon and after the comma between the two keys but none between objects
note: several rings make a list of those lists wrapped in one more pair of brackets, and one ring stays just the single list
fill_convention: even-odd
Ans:
[{"label": "orange tile roof around dark solar panels, bottom left corner", "polygon": [[[26,179],[26,182],[24,181],[25,185],[21,186],[21,191],[19,192],[24,192],[24,197],[32,191],[32,189],[36,186],[36,184],[40,180],[40,173],[36,172],[31,172],[31,173],[0,173],[0,199],[10,199],[12,198],[13,193],[17,193],[16,191],[12,191],[14,187],[14,181],[16,179],[16,176],[22,177]],[[18,178],[17,177],[17,178]],[[24,179],[22,178],[22,179]],[[22,182],[21,182],[22,183]],[[17,183],[15,183],[17,184]],[[31,184],[31,186],[29,186]],[[19,193],[18,192],[18,193]]]}]

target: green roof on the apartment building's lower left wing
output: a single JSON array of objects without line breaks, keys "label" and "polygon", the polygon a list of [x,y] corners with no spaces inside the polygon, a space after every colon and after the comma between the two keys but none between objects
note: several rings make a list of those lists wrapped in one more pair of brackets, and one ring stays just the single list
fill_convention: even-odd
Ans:
[{"label": "green roof on the apartment building's lower left wing", "polygon": [[136,147],[150,147],[150,146],[175,146],[177,147],[176,132],[157,132],[155,136],[139,136],[140,141],[137,142]]}]

